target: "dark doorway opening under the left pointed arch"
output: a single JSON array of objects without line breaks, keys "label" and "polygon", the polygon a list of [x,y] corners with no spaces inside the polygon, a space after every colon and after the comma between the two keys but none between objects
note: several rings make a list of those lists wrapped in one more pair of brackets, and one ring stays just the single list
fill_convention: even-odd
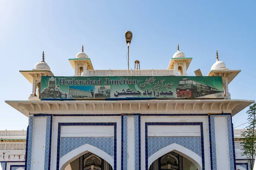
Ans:
[{"label": "dark doorway opening under the left pointed arch", "polygon": [[64,170],[113,170],[113,168],[104,159],[88,152],[70,162]]}]

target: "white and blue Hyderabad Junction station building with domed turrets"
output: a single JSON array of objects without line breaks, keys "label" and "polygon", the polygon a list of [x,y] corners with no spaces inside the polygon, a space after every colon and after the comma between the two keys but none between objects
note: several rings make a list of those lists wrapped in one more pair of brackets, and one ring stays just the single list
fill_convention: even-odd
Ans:
[{"label": "white and blue Hyderabad Junction station building with domed turrets", "polygon": [[[71,96],[61,88],[63,77],[53,75],[44,54],[32,71],[20,71],[32,83],[32,94],[29,100],[6,103],[29,117],[26,151],[15,166],[1,161],[3,170],[244,170],[244,162],[236,161],[232,116],[253,101],[231,99],[228,85],[241,70],[226,68],[218,54],[207,77],[187,77],[192,58],[179,48],[166,70],[94,70],[84,51],[69,61],[75,72],[75,78],[65,78],[74,80],[69,88],[90,97]],[[137,91],[131,85],[81,89],[92,77],[95,83],[113,77],[124,78],[122,83],[145,81],[134,86]],[[159,77],[165,82],[157,82]],[[221,79],[221,88],[200,79],[213,79],[212,85]],[[146,85],[152,90],[141,90]],[[47,88],[55,96],[45,95]],[[106,95],[95,97],[103,89]]]}]

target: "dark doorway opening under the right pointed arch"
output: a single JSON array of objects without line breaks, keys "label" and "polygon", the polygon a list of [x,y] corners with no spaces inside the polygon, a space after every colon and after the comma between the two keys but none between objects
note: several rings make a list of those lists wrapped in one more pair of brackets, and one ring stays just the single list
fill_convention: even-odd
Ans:
[{"label": "dark doorway opening under the right pointed arch", "polygon": [[169,152],[156,159],[149,170],[198,170],[191,161],[175,152]]}]

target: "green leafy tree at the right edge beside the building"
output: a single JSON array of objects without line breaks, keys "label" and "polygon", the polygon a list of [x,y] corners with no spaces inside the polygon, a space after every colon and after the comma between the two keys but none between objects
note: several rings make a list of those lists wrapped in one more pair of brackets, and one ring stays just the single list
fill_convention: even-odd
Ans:
[{"label": "green leafy tree at the right edge beside the building", "polygon": [[242,156],[246,156],[250,159],[250,168],[253,169],[254,159],[256,156],[256,103],[250,105],[248,114],[249,125],[246,127],[241,136],[244,137],[242,142]]}]

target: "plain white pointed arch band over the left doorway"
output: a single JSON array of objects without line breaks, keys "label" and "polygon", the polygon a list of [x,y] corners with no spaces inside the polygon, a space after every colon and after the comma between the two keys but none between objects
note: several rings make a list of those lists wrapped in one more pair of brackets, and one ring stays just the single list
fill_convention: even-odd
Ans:
[{"label": "plain white pointed arch band over the left doorway", "polygon": [[114,159],[112,158],[112,156],[108,155],[108,153],[105,153],[103,150],[100,150],[97,147],[94,147],[90,144],[84,144],[74,150],[71,150],[69,153],[61,157],[59,162],[59,167],[61,167],[60,170],[64,170],[70,162],[79,158],[80,156],[83,156],[88,152],[93,153],[96,156],[99,156],[100,158],[107,161],[112,167],[114,167]]}]

